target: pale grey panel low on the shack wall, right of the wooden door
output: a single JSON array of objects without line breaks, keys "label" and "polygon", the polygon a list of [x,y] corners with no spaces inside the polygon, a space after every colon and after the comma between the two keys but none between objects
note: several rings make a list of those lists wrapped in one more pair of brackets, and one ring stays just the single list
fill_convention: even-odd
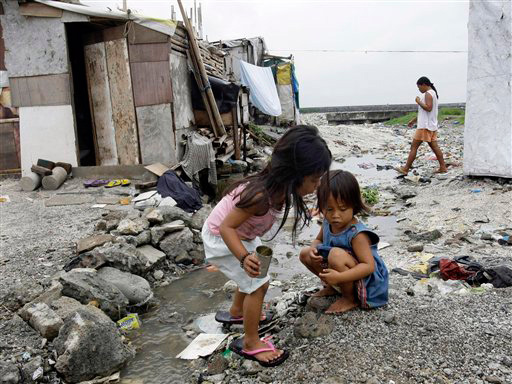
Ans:
[{"label": "pale grey panel low on the shack wall, right of the wooden door", "polygon": [[136,112],[142,163],[175,164],[171,104],[137,107]]}]

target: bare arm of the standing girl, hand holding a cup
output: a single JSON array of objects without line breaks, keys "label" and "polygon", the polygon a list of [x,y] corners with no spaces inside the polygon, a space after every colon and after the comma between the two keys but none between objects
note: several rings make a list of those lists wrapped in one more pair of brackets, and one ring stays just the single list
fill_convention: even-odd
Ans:
[{"label": "bare arm of the standing girl, hand holding a cup", "polygon": [[[231,253],[235,255],[238,260],[241,260],[244,256],[246,256],[248,251],[242,244],[236,229],[251,216],[258,214],[258,211],[261,211],[261,209],[258,210],[257,206],[244,209],[234,207],[233,210],[229,212],[228,215],[224,218],[219,227],[222,240],[224,240]],[[258,276],[259,261],[256,256],[246,257],[244,260],[244,267],[246,272],[251,277]]]}]

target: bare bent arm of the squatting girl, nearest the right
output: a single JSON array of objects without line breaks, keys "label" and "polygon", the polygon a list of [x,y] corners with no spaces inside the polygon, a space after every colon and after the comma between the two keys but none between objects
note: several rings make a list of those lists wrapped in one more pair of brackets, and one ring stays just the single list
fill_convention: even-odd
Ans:
[{"label": "bare bent arm of the squatting girl, nearest the right", "polygon": [[375,260],[373,259],[371,242],[368,235],[364,232],[359,233],[352,239],[352,249],[358,264],[345,272],[338,272],[334,269],[325,269],[320,273],[320,277],[329,285],[347,283],[370,276],[375,270]]}]

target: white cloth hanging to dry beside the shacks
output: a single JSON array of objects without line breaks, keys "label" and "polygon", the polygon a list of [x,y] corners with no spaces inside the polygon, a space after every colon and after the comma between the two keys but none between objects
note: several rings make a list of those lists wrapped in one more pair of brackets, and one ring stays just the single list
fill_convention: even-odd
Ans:
[{"label": "white cloth hanging to dry beside the shacks", "polygon": [[240,61],[242,84],[250,89],[251,103],[270,116],[281,115],[281,102],[277,95],[274,76],[270,68],[258,67]]}]

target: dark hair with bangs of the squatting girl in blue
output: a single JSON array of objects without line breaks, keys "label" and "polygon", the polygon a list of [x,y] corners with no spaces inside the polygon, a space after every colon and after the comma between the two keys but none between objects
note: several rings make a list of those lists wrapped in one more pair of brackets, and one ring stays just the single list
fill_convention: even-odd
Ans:
[{"label": "dark hair with bangs of the squatting girl in blue", "polygon": [[363,201],[357,179],[348,171],[338,169],[329,171],[322,176],[322,181],[316,192],[318,208],[322,212],[327,209],[329,195],[332,195],[334,200],[341,200],[352,208],[354,216],[361,212],[368,213],[370,211]]}]

